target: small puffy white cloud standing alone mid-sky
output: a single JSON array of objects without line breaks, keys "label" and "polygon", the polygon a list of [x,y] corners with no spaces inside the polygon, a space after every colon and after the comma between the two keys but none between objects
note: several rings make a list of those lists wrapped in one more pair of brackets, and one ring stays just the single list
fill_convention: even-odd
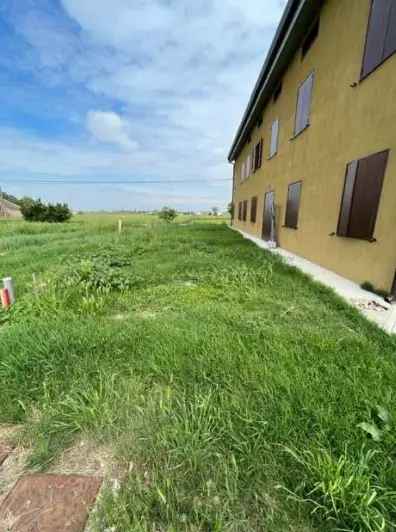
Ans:
[{"label": "small puffy white cloud standing alone mid-sky", "polygon": [[89,111],[86,125],[91,135],[99,142],[115,144],[125,150],[134,150],[138,147],[137,142],[128,135],[128,125],[116,113]]}]

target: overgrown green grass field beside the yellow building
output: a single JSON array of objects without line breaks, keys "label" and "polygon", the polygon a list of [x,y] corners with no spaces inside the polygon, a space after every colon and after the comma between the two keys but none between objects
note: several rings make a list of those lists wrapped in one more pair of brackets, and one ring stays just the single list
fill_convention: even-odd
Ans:
[{"label": "overgrown green grass field beside the yellow building", "polygon": [[118,217],[0,223],[30,467],[111,448],[102,531],[395,530],[396,340],[222,219]]}]

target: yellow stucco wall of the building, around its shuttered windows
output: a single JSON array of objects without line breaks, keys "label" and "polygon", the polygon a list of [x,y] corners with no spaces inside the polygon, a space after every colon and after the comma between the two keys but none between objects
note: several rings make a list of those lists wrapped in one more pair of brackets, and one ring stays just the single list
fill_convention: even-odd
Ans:
[{"label": "yellow stucco wall of the building, around its shuttered windows", "polygon": [[[264,111],[236,160],[235,226],[260,236],[266,191],[275,191],[279,245],[358,283],[390,290],[396,270],[396,55],[359,82],[370,0],[327,0],[320,33],[306,57],[298,51],[283,90]],[[315,72],[310,127],[293,140],[297,90]],[[352,88],[351,84],[357,82]],[[267,160],[270,127],[280,120],[278,154]],[[243,183],[241,165],[264,138],[263,165]],[[330,236],[337,230],[346,164],[390,149],[375,243]],[[302,180],[298,229],[284,224],[288,185]],[[258,197],[257,223],[239,222],[238,202]]]}]

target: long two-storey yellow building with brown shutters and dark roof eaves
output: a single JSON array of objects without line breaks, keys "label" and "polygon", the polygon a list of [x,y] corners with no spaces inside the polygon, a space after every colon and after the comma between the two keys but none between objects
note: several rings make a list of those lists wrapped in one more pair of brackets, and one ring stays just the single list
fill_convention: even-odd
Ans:
[{"label": "long two-storey yellow building with brown shutters and dark roof eaves", "polygon": [[234,225],[396,292],[396,0],[289,0],[232,144]]}]

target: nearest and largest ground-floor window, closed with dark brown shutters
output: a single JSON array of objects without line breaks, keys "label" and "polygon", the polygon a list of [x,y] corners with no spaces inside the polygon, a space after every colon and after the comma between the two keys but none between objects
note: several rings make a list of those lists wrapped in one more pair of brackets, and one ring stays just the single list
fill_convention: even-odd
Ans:
[{"label": "nearest and largest ground-floor window, closed with dark brown shutters", "polygon": [[338,236],[372,240],[389,151],[347,165]]}]

